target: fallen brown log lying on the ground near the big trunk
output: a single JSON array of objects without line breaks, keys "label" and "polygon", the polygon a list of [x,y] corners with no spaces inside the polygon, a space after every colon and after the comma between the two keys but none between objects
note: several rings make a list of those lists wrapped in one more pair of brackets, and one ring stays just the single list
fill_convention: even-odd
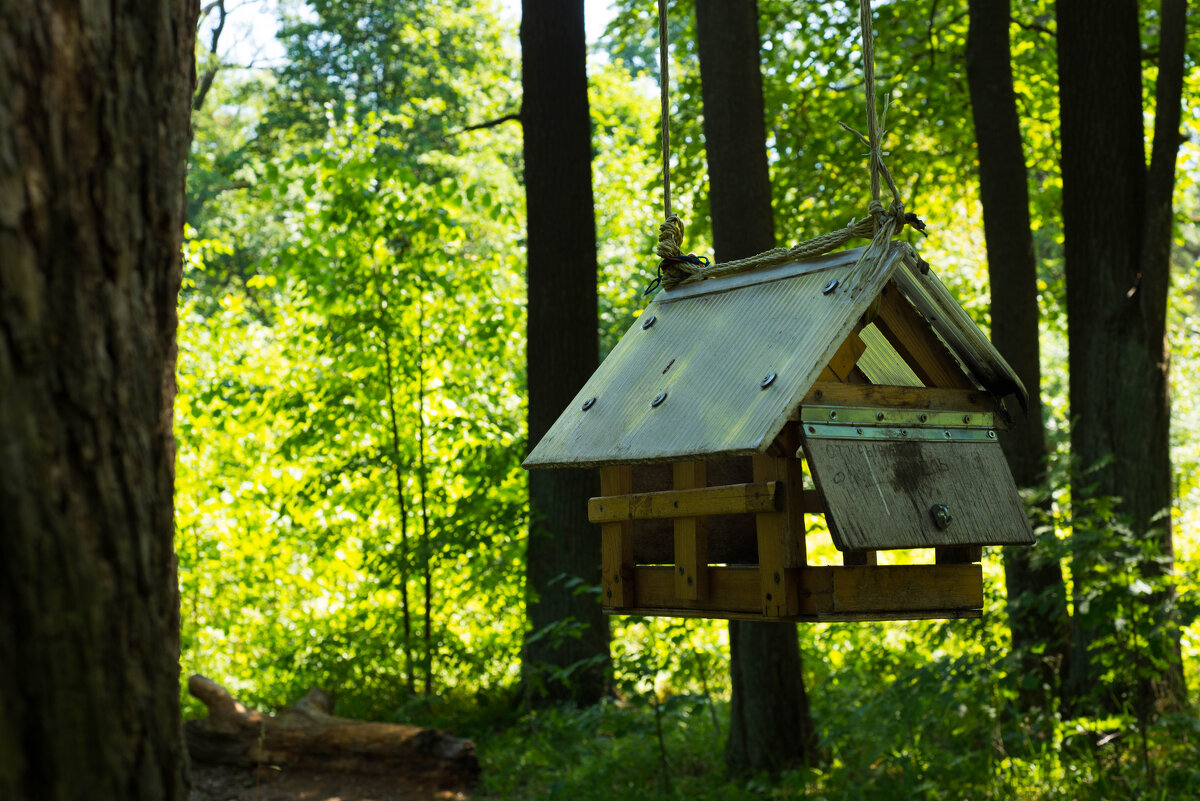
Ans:
[{"label": "fallen brown log lying on the ground near the big trunk", "polygon": [[392,773],[439,788],[469,787],[479,777],[470,740],[438,729],[336,717],[332,698],[322,689],[308,691],[274,716],[246,709],[204,676],[188,679],[187,691],[209,710],[206,718],[184,724],[188,754],[198,763]]}]

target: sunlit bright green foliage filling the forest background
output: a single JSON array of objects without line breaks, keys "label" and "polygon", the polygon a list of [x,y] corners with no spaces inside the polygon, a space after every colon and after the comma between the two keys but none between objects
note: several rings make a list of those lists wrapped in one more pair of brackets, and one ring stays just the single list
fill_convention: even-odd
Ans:
[{"label": "sunlit bright green foliage filling the forest background", "polygon": [[[590,66],[605,353],[643,305],[661,217],[653,8],[619,5]],[[694,22],[690,4],[676,6],[673,197],[686,247],[703,252]],[[865,209],[865,158],[836,127],[862,127],[857,20],[848,4],[760,7],[776,230],[791,243]],[[962,8],[875,7],[889,163],[931,225],[918,242],[925,258],[986,324]],[[222,70],[194,115],[176,403],[185,670],[254,706],[320,685],[338,692],[341,713],[473,736],[484,797],[1194,796],[1195,718],[1150,715],[1136,688],[1162,658],[1163,642],[1148,634],[1164,615],[1182,625],[1193,695],[1200,689],[1200,234],[1194,222],[1178,228],[1171,301],[1172,608],[1118,507],[1093,506],[1097,524],[1067,540],[1084,510],[1072,508],[1066,481],[1054,16],[1028,0],[1014,2],[1014,19],[1042,392],[1062,474],[1038,553],[1061,559],[1074,544],[1114,555],[1084,601],[1120,624],[1096,652],[1115,711],[1067,719],[1052,704],[1020,704],[1037,679],[1018,674],[1009,654],[998,554],[988,555],[983,621],[802,628],[821,753],[780,777],[725,772],[721,622],[614,619],[614,697],[589,710],[523,711],[520,131],[463,131],[518,106],[515,35],[490,4],[467,0],[314,2],[287,22],[280,70]],[[1195,119],[1181,153],[1184,218],[1200,204]],[[575,633],[563,621],[532,636]]]}]

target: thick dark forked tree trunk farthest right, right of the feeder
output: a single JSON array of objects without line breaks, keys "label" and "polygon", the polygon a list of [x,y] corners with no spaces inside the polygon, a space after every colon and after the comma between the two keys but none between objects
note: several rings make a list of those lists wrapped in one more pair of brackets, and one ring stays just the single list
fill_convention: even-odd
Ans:
[{"label": "thick dark forked tree trunk farthest right, right of the feeder", "polygon": [[[1147,170],[1136,1],[1057,4],[1070,441],[1081,469],[1111,458],[1073,492],[1080,501],[1121,498],[1118,513],[1128,516],[1135,535],[1151,542],[1168,565],[1172,546],[1166,293],[1184,14],[1184,0],[1164,0]],[[1159,517],[1164,510],[1168,516]],[[1097,586],[1096,566],[1106,556],[1080,536],[1094,530],[1096,523],[1080,518],[1076,525],[1076,609]],[[1170,567],[1148,572],[1162,570]],[[1090,646],[1109,630],[1098,607],[1092,603],[1076,614],[1070,676],[1075,693],[1098,682],[1100,670]],[[1152,631],[1144,624],[1138,633]],[[1162,656],[1174,658],[1146,683],[1154,686],[1160,703],[1177,704],[1184,694],[1178,651],[1165,650]],[[1141,669],[1147,671],[1148,666]]]}]

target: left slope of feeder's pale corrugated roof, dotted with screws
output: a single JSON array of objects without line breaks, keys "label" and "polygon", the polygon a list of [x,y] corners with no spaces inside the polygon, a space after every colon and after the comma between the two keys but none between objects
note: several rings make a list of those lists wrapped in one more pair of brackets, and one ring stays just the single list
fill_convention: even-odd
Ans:
[{"label": "left slope of feeder's pale corrugated roof, dotted with screws", "polygon": [[[894,245],[884,259],[864,265],[857,287],[844,284],[860,249],[660,293],[524,466],[764,451],[896,271],[906,247]],[[841,283],[826,294],[834,278]],[[772,373],[774,380],[762,389]]]}]

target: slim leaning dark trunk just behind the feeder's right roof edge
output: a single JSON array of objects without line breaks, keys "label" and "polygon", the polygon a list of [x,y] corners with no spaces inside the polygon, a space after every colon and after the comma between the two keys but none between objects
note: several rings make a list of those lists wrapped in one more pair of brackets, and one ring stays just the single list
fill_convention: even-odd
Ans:
[{"label": "slim leaning dark trunk just behind the feeder's right roof edge", "polygon": [[[1046,490],[1038,354],[1038,265],[1030,228],[1030,194],[1020,119],[1013,94],[1008,0],[971,0],[967,80],[979,144],[979,195],[988,239],[991,341],[1030,391],[1030,405],[1001,435],[1018,487]],[[1026,704],[1045,706],[1062,686],[1070,619],[1062,565],[1052,553],[1004,548],[1008,615],[1018,675],[1038,676]]]}]

